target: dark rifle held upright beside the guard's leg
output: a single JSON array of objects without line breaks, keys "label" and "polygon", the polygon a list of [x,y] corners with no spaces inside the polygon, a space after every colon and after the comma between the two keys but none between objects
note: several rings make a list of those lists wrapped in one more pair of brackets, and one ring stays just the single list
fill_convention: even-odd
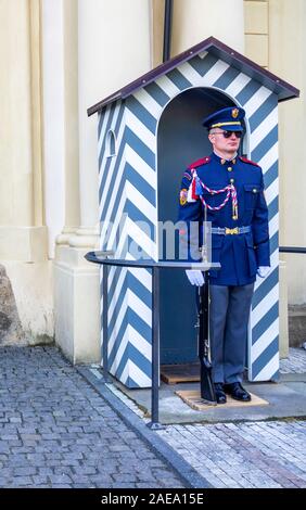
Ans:
[{"label": "dark rifle held upright beside the guard's leg", "polygon": [[197,353],[201,367],[201,398],[207,404],[216,405],[215,386],[212,377],[208,343],[208,279],[197,288]]}]

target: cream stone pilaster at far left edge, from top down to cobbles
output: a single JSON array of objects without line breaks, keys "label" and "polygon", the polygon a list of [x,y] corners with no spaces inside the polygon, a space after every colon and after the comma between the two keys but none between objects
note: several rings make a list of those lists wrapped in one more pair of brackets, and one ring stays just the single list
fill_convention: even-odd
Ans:
[{"label": "cream stone pilaster at far left edge, from top down to cobbles", "polygon": [[[44,217],[39,0],[0,2],[0,260],[5,342],[53,339]],[[1,269],[4,275],[4,269]],[[3,297],[3,296],[2,296]],[[18,324],[18,334],[13,324]],[[13,334],[13,330],[15,333]],[[2,330],[2,331],[1,331]]]}]

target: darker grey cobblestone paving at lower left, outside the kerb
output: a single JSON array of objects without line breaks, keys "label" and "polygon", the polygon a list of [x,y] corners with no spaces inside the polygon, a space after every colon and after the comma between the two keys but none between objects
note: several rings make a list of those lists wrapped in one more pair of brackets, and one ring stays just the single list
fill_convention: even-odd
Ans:
[{"label": "darker grey cobblestone paving at lower left, outside the kerb", "polygon": [[0,487],[182,487],[53,347],[0,349]]}]

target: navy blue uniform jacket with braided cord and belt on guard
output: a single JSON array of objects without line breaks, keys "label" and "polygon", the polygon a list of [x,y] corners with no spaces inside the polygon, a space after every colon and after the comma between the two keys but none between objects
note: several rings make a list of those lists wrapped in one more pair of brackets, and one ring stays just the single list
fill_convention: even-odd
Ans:
[{"label": "navy blue uniform jacket with braided cord and belt on guard", "polygon": [[[251,232],[220,235],[212,234],[212,262],[220,263],[220,270],[209,271],[211,284],[216,285],[246,285],[256,279],[259,266],[270,265],[268,208],[264,195],[264,179],[262,168],[253,162],[241,156],[231,162],[221,160],[215,153],[192,163],[184,171],[181,181],[179,220],[187,225],[181,230],[181,239],[187,240],[189,246],[189,260],[199,260],[200,257],[191,255],[192,239],[189,234],[191,221],[199,221],[200,231],[204,221],[204,205],[199,199],[195,202],[187,201],[187,193],[192,183],[192,169],[195,168],[199,178],[208,188],[218,190],[233,183],[238,193],[238,218],[233,219],[232,201],[219,211],[207,208],[207,221],[212,227],[246,227]],[[203,190],[203,197],[211,206],[220,205],[226,193],[212,195]],[[197,240],[199,242],[199,240]],[[200,243],[202,241],[200,240]]]}]

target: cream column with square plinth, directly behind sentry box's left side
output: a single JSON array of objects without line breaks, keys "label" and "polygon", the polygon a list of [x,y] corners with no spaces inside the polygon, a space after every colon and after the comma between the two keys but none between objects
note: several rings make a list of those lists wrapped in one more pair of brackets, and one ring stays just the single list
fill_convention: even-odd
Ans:
[{"label": "cream column with square plinth, directly behind sentry box's left side", "polygon": [[[66,208],[76,202],[75,196],[67,195],[68,176],[69,186],[76,184],[69,166],[75,171],[78,164],[79,226],[68,225],[75,221],[76,215],[69,220],[66,215],[65,228],[58,238],[55,337],[74,362],[99,361],[99,268],[84,258],[87,252],[99,246],[98,118],[88,118],[87,109],[149,71],[150,3],[143,0],[64,0],[63,9],[65,126],[71,126],[65,138]],[[76,97],[77,107],[73,109]],[[74,122],[73,110],[78,112]],[[76,125],[77,157],[71,150],[76,145]]]}]

